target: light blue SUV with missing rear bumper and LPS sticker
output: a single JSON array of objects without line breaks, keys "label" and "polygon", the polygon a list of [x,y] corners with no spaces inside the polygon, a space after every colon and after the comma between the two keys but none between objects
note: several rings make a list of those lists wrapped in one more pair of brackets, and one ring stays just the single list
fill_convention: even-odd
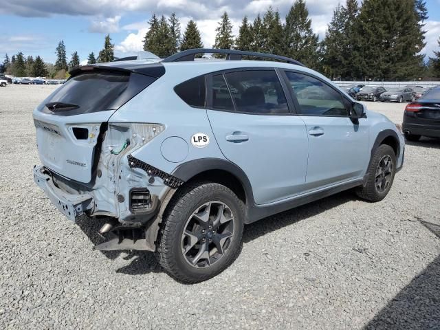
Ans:
[{"label": "light blue SUV with missing rear bumper and LPS sticker", "polygon": [[187,50],[71,74],[34,110],[36,184],[73,221],[108,217],[97,250],[155,251],[184,283],[228,267],[247,223],[351,188],[384,199],[404,162],[395,124],[291,58]]}]

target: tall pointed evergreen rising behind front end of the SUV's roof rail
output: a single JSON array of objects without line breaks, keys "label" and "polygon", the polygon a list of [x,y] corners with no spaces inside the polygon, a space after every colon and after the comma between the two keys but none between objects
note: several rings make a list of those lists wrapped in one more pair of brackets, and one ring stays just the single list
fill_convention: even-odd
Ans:
[{"label": "tall pointed evergreen rising behind front end of the SUV's roof rail", "polygon": [[309,10],[304,0],[296,0],[289,10],[284,27],[285,55],[307,67],[317,67],[318,36],[311,30]]}]

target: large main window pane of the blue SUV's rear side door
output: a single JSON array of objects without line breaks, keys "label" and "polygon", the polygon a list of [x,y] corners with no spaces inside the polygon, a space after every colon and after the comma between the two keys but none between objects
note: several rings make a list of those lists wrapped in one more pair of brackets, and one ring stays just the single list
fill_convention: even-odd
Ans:
[{"label": "large main window pane of the blue SUV's rear side door", "polygon": [[283,88],[273,70],[225,74],[236,111],[256,114],[289,113]]}]

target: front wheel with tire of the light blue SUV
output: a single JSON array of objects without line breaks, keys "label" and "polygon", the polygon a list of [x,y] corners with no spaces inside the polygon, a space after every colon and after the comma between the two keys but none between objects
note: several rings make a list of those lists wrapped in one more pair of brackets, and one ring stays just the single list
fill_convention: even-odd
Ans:
[{"label": "front wheel with tire of the light blue SUV", "polygon": [[382,201],[388,195],[396,173],[396,155],[393,148],[381,144],[366,172],[367,179],[364,186],[358,187],[356,195],[367,201]]}]

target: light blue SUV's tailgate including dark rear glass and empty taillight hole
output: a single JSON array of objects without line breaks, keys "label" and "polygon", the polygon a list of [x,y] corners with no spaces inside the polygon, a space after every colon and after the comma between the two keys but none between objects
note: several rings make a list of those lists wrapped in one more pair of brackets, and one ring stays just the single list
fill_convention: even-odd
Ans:
[{"label": "light blue SUV's tailgate including dark rear glass and empty taillight hole", "polygon": [[34,110],[41,163],[69,179],[91,181],[102,124],[154,80],[92,67],[67,80]]}]

